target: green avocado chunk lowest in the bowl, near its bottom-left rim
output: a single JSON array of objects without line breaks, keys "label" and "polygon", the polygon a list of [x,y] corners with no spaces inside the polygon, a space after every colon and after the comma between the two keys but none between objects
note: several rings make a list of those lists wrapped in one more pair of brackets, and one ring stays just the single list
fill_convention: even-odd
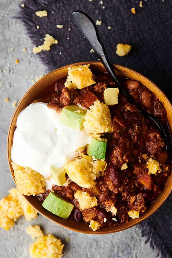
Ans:
[{"label": "green avocado chunk lowest in the bowl, near its bottom-left rim", "polygon": [[42,203],[42,206],[53,214],[67,219],[73,210],[74,205],[56,193],[50,192]]}]

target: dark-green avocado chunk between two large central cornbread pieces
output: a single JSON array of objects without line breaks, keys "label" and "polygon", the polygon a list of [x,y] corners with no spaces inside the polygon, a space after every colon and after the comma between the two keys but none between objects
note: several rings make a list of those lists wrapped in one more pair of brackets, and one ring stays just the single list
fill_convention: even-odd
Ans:
[{"label": "dark-green avocado chunk between two large central cornbread pieces", "polygon": [[87,145],[87,154],[94,156],[96,159],[105,159],[107,141],[91,138],[90,144]]}]

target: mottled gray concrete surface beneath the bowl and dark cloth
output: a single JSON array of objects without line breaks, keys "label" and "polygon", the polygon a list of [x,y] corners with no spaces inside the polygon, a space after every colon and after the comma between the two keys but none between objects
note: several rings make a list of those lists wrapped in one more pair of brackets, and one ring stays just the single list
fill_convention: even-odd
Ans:
[{"label": "mottled gray concrete surface beneath the bowl and dark cloth", "polygon": [[[6,155],[6,141],[9,123],[14,112],[13,100],[20,100],[31,87],[32,80],[40,74],[46,74],[46,68],[36,55],[32,54],[32,44],[24,26],[12,17],[17,14],[18,0],[0,0],[0,198],[14,187]],[[14,47],[11,51],[11,47]],[[22,52],[22,48],[27,48]],[[19,59],[19,64],[15,60]],[[5,73],[4,70],[7,70]],[[5,103],[5,98],[9,102]],[[1,216],[1,215],[0,215]],[[33,242],[26,234],[29,224],[39,224],[45,233],[51,233],[62,239],[65,244],[64,258],[153,258],[156,253],[144,244],[140,230],[136,227],[109,235],[86,235],[57,226],[39,215],[36,220],[27,222],[19,218],[8,231],[0,228],[0,257],[29,257],[29,246]],[[69,238],[69,242],[66,241]]]}]

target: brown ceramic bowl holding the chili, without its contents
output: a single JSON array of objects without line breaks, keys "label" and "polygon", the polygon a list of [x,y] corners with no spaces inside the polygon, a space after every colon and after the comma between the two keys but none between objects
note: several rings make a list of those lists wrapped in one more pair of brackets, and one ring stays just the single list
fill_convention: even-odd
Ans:
[{"label": "brown ceramic bowl holding the chili, without its contents", "polygon": [[[100,71],[104,72],[105,68],[101,64],[101,62],[81,62],[81,63],[75,63],[72,65],[81,65],[81,64],[90,64],[90,68],[92,71]],[[24,97],[21,99],[19,102],[12,120],[11,124],[9,126],[9,131],[8,131],[8,138],[7,138],[7,156],[8,156],[8,163],[9,163],[9,168],[11,171],[11,175],[13,177],[13,180],[15,182],[14,178],[14,171],[11,167],[11,145],[12,145],[12,139],[13,139],[13,132],[15,130],[15,124],[17,120],[17,116],[23,110],[25,107],[27,107],[32,101],[34,101],[36,98],[38,98],[39,93],[44,91],[44,89],[48,85],[54,84],[58,79],[62,79],[67,76],[68,73],[68,67],[71,65],[67,65],[64,67],[61,67],[59,69],[56,69],[55,71],[45,75],[42,79],[40,79],[38,82],[36,82],[24,95]],[[169,101],[169,99],[165,96],[165,94],[155,85],[152,81],[141,75],[140,73],[137,73],[136,71],[133,71],[131,69],[128,69],[126,67],[120,66],[120,65],[114,65],[114,69],[118,75],[122,75],[124,77],[138,80],[140,81],[143,85],[145,85],[148,89],[150,89],[163,103],[164,107],[167,110],[167,118],[169,121],[170,125],[170,130],[172,131],[172,105]],[[49,220],[55,222],[58,225],[63,226],[64,228],[71,229],[73,231],[81,232],[81,233],[86,233],[86,234],[109,234],[109,233],[114,233],[118,232],[127,228],[130,228],[146,218],[148,218],[150,215],[152,215],[160,206],[163,204],[163,202],[167,199],[171,192],[171,185],[172,185],[172,174],[169,176],[166,185],[164,186],[164,189],[162,193],[158,196],[158,198],[151,204],[151,206],[144,212],[143,214],[140,215],[140,218],[137,219],[131,219],[128,223],[124,223],[121,225],[112,225],[112,226],[105,226],[97,231],[92,231],[88,224],[83,224],[83,223],[78,223],[73,220],[65,220],[63,218],[60,218],[48,210],[44,209],[41,205],[41,202],[33,196],[25,196],[26,200],[34,207],[37,212],[48,218]]]}]

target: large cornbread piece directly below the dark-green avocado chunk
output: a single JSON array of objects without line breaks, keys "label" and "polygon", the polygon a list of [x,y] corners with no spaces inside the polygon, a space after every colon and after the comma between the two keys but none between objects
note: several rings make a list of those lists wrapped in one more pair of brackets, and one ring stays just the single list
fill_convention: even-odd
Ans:
[{"label": "large cornbread piece directly below the dark-green avocado chunk", "polygon": [[[96,164],[96,165],[95,165]],[[96,185],[96,177],[99,177],[97,163],[92,157],[84,155],[80,159],[69,161],[64,164],[69,178],[81,187],[89,188]]]}]

